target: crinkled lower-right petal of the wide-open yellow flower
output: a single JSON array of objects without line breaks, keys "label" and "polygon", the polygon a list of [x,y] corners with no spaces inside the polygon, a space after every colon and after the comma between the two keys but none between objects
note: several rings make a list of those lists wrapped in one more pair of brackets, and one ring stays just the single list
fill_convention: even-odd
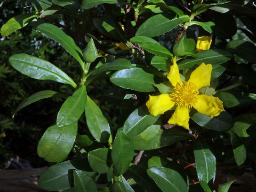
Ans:
[{"label": "crinkled lower-right petal of the wide-open yellow flower", "polygon": [[215,117],[224,110],[222,101],[218,97],[212,95],[198,95],[198,100],[194,104],[194,108],[209,117]]}]

